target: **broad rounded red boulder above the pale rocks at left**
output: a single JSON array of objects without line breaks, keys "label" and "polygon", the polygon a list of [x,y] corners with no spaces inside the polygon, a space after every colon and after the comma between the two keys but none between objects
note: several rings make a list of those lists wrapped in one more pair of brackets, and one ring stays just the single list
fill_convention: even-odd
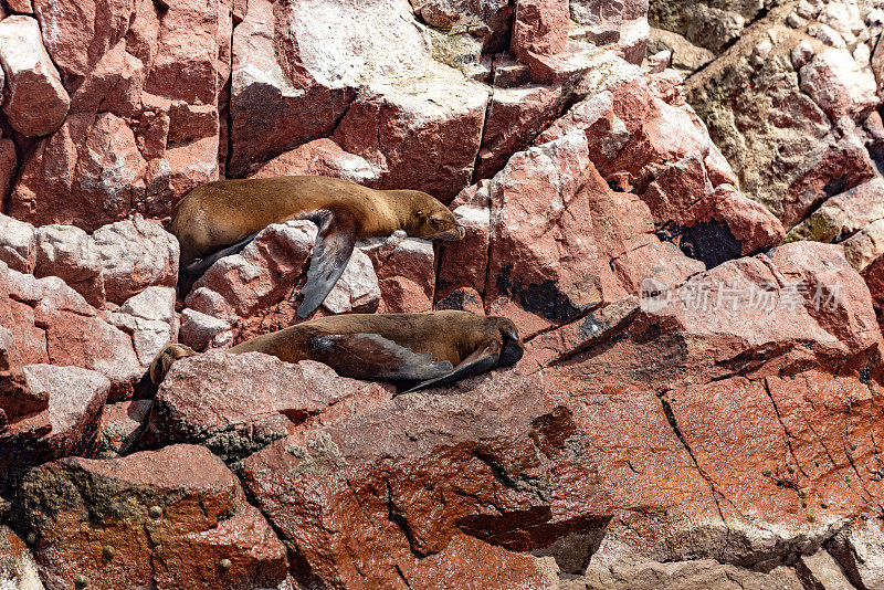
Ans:
[{"label": "broad rounded red boulder above the pale rocks at left", "polygon": [[143,198],[145,166],[125,120],[109,113],[71,115],[22,165],[10,213],[36,225],[97,229]]}]

